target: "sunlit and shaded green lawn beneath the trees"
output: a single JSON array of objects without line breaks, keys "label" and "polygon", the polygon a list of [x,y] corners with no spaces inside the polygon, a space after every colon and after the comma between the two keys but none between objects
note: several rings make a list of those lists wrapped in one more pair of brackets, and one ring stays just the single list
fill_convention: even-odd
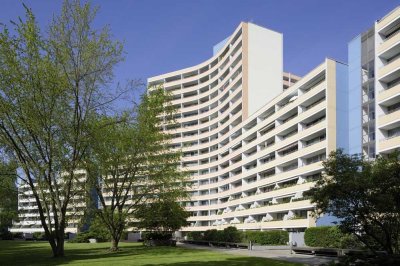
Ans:
[{"label": "sunlit and shaded green lawn beneath the trees", "polygon": [[144,247],[121,243],[110,253],[109,243],[65,244],[65,257],[52,258],[47,242],[0,241],[0,265],[170,265],[170,266],[290,266],[300,265],[265,258],[234,256],[220,252],[180,247]]}]

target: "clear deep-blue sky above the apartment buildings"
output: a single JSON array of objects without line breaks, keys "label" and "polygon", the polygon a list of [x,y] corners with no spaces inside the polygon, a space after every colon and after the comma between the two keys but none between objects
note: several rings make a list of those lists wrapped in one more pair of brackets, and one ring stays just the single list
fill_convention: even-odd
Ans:
[{"label": "clear deep-blue sky above the apartment buildings", "polygon": [[[24,1],[47,25],[61,1]],[[24,14],[22,2],[1,0],[0,22]],[[198,64],[241,21],[283,33],[284,69],[304,75],[325,57],[347,62],[347,43],[400,4],[398,0],[140,0],[92,1],[96,24],[125,41],[116,79],[141,78]]]}]

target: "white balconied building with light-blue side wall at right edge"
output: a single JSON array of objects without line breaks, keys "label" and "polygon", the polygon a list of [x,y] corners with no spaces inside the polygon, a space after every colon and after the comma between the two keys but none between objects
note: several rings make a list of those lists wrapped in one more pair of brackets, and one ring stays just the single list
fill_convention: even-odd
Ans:
[{"label": "white balconied building with light-blue side wall at right edge", "polygon": [[348,47],[349,152],[372,159],[400,147],[400,7]]}]

